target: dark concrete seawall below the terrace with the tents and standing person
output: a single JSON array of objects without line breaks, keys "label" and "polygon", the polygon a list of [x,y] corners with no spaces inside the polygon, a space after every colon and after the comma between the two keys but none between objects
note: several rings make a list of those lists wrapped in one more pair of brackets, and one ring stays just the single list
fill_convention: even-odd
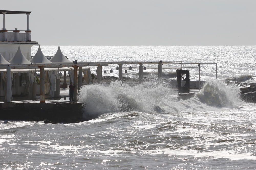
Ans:
[{"label": "dark concrete seawall below the terrace with the tents and standing person", "polygon": [[0,103],[1,120],[76,123],[83,121],[82,103]]}]

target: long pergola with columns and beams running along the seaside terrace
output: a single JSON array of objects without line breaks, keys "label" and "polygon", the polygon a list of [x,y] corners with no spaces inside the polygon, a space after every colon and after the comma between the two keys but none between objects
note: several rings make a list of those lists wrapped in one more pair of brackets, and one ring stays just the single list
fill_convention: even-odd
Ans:
[{"label": "long pergola with columns and beams running along the seaside terrace", "polygon": [[[66,63],[31,63],[31,64],[1,64],[0,69],[6,69],[6,102],[11,101],[11,69],[40,69],[40,103],[45,103],[45,83],[44,83],[44,70],[46,68],[63,68],[63,67],[73,67],[74,70],[74,101],[77,101],[78,89],[82,86],[82,67],[92,67],[97,66],[97,79],[98,82],[102,82],[102,66],[108,65],[119,65],[119,80],[123,80],[123,64],[138,64],[139,65],[139,82],[143,82],[143,64],[158,65],[158,77],[162,77],[162,65],[163,64],[179,64],[182,68],[183,64],[197,64],[200,69],[200,64],[216,64],[216,78],[217,78],[217,63],[182,63],[181,61],[157,61],[157,62],[130,62],[130,61],[120,61],[120,62],[66,62]],[[79,70],[78,70],[79,68]],[[175,67],[176,68],[176,67]],[[177,67],[178,68],[178,67]],[[189,67],[186,67],[189,68]],[[191,67],[194,68],[194,67]],[[78,73],[79,71],[79,73]],[[200,73],[199,73],[200,74]]]}]

